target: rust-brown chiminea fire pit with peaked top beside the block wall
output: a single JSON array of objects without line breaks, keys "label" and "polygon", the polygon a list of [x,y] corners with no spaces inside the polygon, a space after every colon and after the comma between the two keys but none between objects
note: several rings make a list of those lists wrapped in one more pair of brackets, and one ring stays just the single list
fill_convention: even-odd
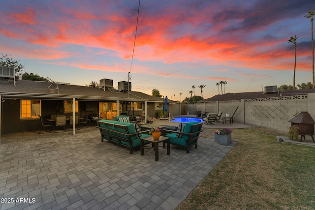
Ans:
[{"label": "rust-brown chiminea fire pit with peaked top beside the block wall", "polygon": [[301,112],[300,114],[298,114],[297,116],[295,116],[294,118],[292,118],[291,120],[289,120],[289,122],[291,122],[291,126],[292,125],[298,125],[299,126],[299,134],[301,135],[301,142],[302,142],[302,137],[305,136],[311,136],[314,141],[314,124],[315,121],[313,120],[313,118],[311,117],[311,115],[308,112]]}]

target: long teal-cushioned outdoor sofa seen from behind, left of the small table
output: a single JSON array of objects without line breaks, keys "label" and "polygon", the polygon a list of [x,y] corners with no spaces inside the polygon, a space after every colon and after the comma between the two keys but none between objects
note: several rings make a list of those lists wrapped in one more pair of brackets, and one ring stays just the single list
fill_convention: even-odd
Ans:
[{"label": "long teal-cushioned outdoor sofa seen from behind, left of the small table", "polygon": [[[140,147],[140,138],[150,136],[149,130],[141,131],[138,125],[115,120],[97,120],[97,128],[101,134],[101,141],[106,139],[109,142],[118,144],[119,146],[129,148],[132,154],[133,148]],[[148,142],[144,142],[149,144]]]}]

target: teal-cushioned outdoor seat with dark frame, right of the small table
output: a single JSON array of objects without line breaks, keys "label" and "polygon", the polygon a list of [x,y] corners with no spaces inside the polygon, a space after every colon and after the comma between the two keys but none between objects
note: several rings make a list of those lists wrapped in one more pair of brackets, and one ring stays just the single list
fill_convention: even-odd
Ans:
[{"label": "teal-cushioned outdoor seat with dark frame, right of the small table", "polygon": [[[163,129],[162,135],[169,137],[171,145],[184,147],[189,153],[190,147],[195,146],[196,149],[198,147],[199,134],[203,131],[202,124],[202,122],[196,121],[181,123],[177,131]],[[163,146],[165,146],[165,142],[163,142]]]}]

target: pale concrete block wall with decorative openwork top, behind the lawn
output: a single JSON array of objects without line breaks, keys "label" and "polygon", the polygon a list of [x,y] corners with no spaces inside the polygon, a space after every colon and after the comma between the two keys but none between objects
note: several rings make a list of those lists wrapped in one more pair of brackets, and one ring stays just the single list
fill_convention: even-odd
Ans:
[{"label": "pale concrete block wall with decorative openwork top, behind the lawn", "polygon": [[[218,108],[217,108],[218,107]],[[222,112],[233,114],[233,120],[257,127],[263,127],[287,134],[295,114],[308,112],[315,120],[315,93],[297,96],[277,96],[272,98],[241,99],[235,101],[216,101],[197,104],[202,112]]]}]

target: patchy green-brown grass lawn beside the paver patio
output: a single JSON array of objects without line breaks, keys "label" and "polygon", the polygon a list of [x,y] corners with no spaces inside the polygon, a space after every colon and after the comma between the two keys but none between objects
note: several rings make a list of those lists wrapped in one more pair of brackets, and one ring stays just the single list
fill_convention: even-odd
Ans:
[{"label": "patchy green-brown grass lawn beside the paver patio", "polygon": [[279,143],[277,135],[232,129],[237,145],[177,210],[314,210],[315,147]]}]

